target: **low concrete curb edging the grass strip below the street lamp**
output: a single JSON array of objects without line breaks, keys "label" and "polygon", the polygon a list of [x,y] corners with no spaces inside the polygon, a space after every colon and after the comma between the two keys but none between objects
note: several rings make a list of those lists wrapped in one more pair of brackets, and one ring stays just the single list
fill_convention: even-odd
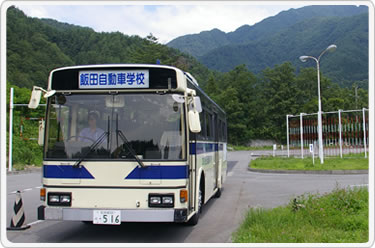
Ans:
[{"label": "low concrete curb edging the grass strip below the street lamp", "polygon": [[315,174],[315,175],[363,175],[368,174],[368,170],[265,170],[247,168],[248,171],[260,173],[280,173],[280,174]]}]

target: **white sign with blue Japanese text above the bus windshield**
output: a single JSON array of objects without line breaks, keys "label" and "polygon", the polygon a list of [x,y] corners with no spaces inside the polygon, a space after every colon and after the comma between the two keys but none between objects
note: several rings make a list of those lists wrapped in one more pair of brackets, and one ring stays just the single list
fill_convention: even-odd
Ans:
[{"label": "white sign with blue Japanese text above the bus windshield", "polygon": [[80,71],[80,89],[149,88],[147,70]]}]

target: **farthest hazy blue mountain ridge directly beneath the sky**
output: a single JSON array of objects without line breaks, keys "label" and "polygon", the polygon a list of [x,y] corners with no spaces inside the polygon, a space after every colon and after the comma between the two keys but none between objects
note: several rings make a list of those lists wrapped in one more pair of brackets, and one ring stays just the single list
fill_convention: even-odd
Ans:
[{"label": "farthest hazy blue mountain ridge directly beneath the sky", "polygon": [[233,32],[224,33],[219,29],[189,34],[170,41],[167,45],[200,57],[205,53],[226,45],[246,44],[250,41],[273,35],[297,22],[316,17],[344,17],[368,12],[366,6],[306,6],[299,9],[282,11],[276,16],[268,17],[250,26],[243,25]]}]

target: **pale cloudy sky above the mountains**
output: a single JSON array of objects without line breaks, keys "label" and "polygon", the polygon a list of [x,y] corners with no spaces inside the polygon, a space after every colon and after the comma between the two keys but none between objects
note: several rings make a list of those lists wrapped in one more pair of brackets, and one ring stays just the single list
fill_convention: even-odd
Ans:
[{"label": "pale cloudy sky above the mountains", "polygon": [[[22,3],[22,4],[21,4]],[[120,31],[127,35],[146,37],[152,33],[165,44],[186,34],[218,28],[231,32],[238,27],[253,25],[283,10],[300,8],[302,4],[291,2],[80,2],[71,5],[28,4],[20,2],[16,7],[27,16],[51,18],[60,22],[93,28],[97,32]],[[69,5],[68,5],[69,4]],[[80,5],[78,5],[80,4]],[[85,4],[85,5],[82,5]]]}]

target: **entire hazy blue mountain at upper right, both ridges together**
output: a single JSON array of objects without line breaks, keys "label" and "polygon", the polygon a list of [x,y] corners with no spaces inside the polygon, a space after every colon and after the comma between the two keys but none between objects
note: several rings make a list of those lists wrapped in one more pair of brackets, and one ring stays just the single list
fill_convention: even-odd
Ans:
[{"label": "entire hazy blue mountain at upper right, both ridges together", "polygon": [[[217,42],[212,43],[213,40]],[[182,36],[167,45],[192,54],[210,69],[229,71],[245,64],[252,72],[259,73],[285,61],[291,61],[296,68],[315,66],[312,62],[302,64],[298,57],[318,56],[332,43],[338,49],[322,59],[322,72],[345,86],[357,81],[366,82],[367,6],[290,9],[253,26],[241,26],[234,32],[224,33],[216,29]]]}]

